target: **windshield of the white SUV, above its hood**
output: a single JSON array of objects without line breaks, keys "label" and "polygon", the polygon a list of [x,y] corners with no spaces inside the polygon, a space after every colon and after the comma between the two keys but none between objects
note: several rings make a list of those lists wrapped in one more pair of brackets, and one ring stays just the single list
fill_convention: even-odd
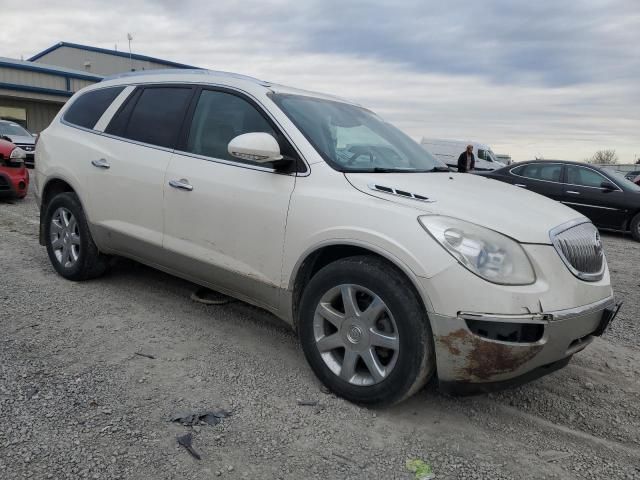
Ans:
[{"label": "windshield of the white SUV, above its hood", "polygon": [[369,110],[301,95],[274,94],[271,98],[336,170],[449,170],[411,138]]}]

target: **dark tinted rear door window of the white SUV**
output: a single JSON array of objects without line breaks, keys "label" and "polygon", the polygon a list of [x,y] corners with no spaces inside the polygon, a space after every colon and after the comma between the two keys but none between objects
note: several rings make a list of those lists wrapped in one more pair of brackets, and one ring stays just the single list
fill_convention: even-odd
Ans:
[{"label": "dark tinted rear door window of the white SUV", "polygon": [[[192,89],[188,87],[148,87],[142,90],[133,105],[129,102],[112,120],[126,124],[119,132],[113,125],[107,133],[159,147],[173,148],[184,120]],[[127,118],[128,117],[128,120]]]}]

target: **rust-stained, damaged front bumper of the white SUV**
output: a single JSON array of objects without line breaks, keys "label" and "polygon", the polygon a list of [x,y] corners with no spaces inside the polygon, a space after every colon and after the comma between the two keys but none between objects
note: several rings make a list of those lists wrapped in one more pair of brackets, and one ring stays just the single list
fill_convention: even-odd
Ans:
[{"label": "rust-stained, damaged front bumper of the white SUV", "polygon": [[473,393],[545,375],[601,335],[618,309],[611,296],[536,314],[431,313],[438,380],[444,391]]}]

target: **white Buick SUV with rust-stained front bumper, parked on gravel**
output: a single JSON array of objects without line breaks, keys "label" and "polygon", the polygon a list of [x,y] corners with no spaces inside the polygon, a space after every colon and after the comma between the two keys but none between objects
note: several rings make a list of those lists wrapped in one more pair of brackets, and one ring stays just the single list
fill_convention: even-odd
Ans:
[{"label": "white Buick SUV with rust-stained front bumper, parked on gravel", "polygon": [[127,74],[74,95],[36,157],[60,275],[97,277],[121,255],[262,307],[351,401],[400,401],[436,372],[449,392],[532,379],[615,316],[585,217],[449,172],[342,99]]}]

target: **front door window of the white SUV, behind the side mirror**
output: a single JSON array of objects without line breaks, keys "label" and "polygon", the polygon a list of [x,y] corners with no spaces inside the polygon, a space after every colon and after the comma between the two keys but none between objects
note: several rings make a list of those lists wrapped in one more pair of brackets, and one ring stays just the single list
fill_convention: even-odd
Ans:
[{"label": "front door window of the white SUV, behind the side mirror", "polygon": [[269,122],[246,100],[230,93],[203,90],[193,114],[186,149],[206,157],[245,162],[231,156],[227,147],[234,137],[252,132],[269,133],[278,138]]}]

